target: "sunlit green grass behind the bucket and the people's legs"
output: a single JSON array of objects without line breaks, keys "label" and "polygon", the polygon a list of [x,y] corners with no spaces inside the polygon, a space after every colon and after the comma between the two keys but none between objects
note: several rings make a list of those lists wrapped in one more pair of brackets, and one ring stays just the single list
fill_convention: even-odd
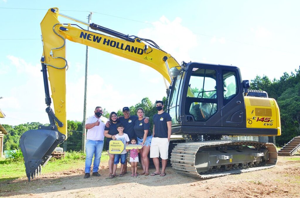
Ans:
[{"label": "sunlit green grass behind the bucket and the people's legs", "polygon": [[[102,152],[101,162],[107,162],[109,156],[107,152]],[[42,167],[42,174],[55,173],[64,170],[84,168],[85,154],[80,152],[66,152],[63,159],[51,159],[45,167]],[[26,177],[23,160],[14,162],[0,158],[0,182]]]}]

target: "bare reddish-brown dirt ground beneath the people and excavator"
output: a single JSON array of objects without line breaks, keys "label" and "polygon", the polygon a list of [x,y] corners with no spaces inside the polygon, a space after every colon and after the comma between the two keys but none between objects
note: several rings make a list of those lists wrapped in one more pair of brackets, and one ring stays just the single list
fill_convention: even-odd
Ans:
[{"label": "bare reddish-brown dirt ground beneath the people and excavator", "polygon": [[[27,182],[16,179],[0,185],[3,197],[300,197],[300,160],[280,157],[274,168],[213,179],[182,176],[167,168],[167,175],[108,178],[107,162],[101,163],[101,177],[83,179],[84,167],[60,173],[42,174]],[[130,167],[128,167],[130,170]],[[139,170],[138,170],[139,171]],[[141,171],[141,170],[140,170]],[[151,169],[150,171],[154,171]],[[21,189],[1,191],[4,185]]]}]

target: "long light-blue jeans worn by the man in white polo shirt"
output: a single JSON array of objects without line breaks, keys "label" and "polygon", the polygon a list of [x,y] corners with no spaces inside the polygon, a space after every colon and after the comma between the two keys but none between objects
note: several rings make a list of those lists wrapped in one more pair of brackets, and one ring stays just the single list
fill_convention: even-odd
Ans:
[{"label": "long light-blue jeans worn by the man in white polo shirt", "polygon": [[85,173],[91,172],[91,164],[92,164],[92,159],[94,154],[95,154],[95,158],[94,158],[94,165],[93,165],[93,173],[98,172],[102,150],[103,150],[103,140],[102,141],[86,140]]}]

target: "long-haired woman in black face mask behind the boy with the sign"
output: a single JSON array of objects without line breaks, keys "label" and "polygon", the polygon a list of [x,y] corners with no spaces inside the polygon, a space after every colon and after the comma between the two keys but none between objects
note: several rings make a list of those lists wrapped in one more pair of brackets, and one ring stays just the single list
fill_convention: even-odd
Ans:
[{"label": "long-haired woman in black face mask behind the boy with the sign", "polygon": [[115,135],[119,133],[117,130],[118,115],[116,112],[110,113],[109,122],[110,122],[110,126],[105,127],[104,129],[104,136],[106,137],[105,149],[107,150],[107,153],[110,156],[110,159],[108,160],[108,168],[110,170],[110,176],[111,176],[113,174],[113,161],[115,159],[115,155],[110,154],[108,150],[109,150],[110,141],[116,140],[117,138],[115,137]]}]

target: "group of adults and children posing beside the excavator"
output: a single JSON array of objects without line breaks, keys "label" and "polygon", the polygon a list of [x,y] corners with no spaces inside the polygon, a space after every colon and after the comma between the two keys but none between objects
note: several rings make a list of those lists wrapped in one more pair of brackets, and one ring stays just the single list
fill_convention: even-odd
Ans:
[{"label": "group of adults and children posing beside the excavator", "polygon": [[[171,137],[171,116],[164,112],[163,101],[156,101],[157,114],[153,116],[153,131],[150,132],[149,118],[145,117],[143,108],[137,109],[137,115],[130,115],[128,107],[122,109],[124,116],[111,112],[109,119],[102,116],[101,106],[95,108],[95,114],[86,120],[85,128],[88,130],[86,135],[86,159],[84,178],[90,177],[92,158],[95,156],[92,176],[101,176],[98,173],[101,153],[104,146],[104,137],[106,137],[105,150],[109,155],[109,177],[116,176],[117,165],[121,162],[119,176],[127,173],[127,158],[130,155],[131,176],[138,176],[137,163],[139,162],[139,153],[143,172],[139,175],[149,175],[149,158],[153,159],[155,171],[151,176],[166,175],[166,166],[168,159],[169,142]],[[109,153],[109,142],[111,140],[121,140],[125,147],[128,144],[141,145],[142,148],[124,150],[120,154]],[[159,166],[159,156],[162,159],[162,169]]]}]

